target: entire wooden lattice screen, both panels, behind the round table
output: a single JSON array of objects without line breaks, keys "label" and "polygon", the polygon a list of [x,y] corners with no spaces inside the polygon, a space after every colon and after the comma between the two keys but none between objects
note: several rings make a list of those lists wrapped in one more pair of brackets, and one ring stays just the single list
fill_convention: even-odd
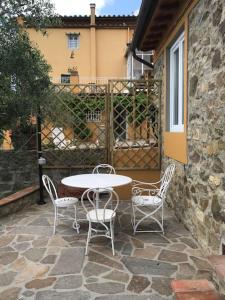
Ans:
[{"label": "entire wooden lattice screen, both panels, behind the round table", "polygon": [[42,107],[47,166],[160,168],[160,82],[55,85]]}]

